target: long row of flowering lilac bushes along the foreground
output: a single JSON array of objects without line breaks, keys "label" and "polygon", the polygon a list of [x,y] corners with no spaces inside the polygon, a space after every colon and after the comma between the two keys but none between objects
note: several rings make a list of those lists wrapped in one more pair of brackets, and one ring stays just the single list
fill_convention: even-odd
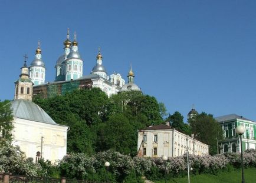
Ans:
[{"label": "long row of flowering lilac bushes along the foreground", "polygon": [[[106,169],[104,163],[110,162]],[[241,167],[241,155],[228,153],[221,155],[189,155],[191,174],[218,174],[231,168]],[[256,152],[244,152],[244,166],[256,167]],[[18,147],[6,144],[0,147],[0,172],[12,172],[42,177],[67,177],[103,182],[106,175],[111,182],[142,182],[142,175],[147,179],[163,179],[165,170],[167,177],[182,177],[186,175],[186,157],[173,157],[167,161],[162,158],[130,157],[113,150],[98,152],[88,156],[84,153],[66,155],[57,165],[41,160],[34,163],[25,159],[24,153]]]}]

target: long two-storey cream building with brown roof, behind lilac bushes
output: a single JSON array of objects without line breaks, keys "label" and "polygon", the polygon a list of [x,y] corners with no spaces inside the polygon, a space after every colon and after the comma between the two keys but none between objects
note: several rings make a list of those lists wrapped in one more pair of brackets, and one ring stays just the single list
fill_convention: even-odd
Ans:
[{"label": "long two-storey cream building with brown roof, behind lilac bushes", "polygon": [[209,145],[182,134],[168,125],[150,126],[138,131],[137,152],[139,157],[178,157],[186,153],[209,154]]}]

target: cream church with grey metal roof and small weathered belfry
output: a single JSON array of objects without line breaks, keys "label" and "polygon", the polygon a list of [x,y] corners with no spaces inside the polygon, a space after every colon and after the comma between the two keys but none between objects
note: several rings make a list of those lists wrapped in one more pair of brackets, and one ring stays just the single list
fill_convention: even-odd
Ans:
[{"label": "cream church with grey metal roof and small weathered belfry", "polygon": [[11,101],[14,115],[13,145],[25,152],[26,158],[55,162],[67,153],[68,127],[56,124],[37,104],[32,102],[32,81],[25,61],[15,82],[15,99]]}]

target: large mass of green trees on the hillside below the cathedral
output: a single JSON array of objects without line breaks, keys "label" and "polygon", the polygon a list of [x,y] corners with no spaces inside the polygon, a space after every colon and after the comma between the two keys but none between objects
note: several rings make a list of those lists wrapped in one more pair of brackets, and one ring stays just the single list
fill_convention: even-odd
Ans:
[{"label": "large mass of green trees on the hillside below the cathedral", "polygon": [[114,149],[137,154],[137,129],[163,122],[165,106],[142,92],[120,92],[110,98],[99,88],[79,89],[43,99],[40,105],[58,124],[68,125],[67,151],[88,155]]}]

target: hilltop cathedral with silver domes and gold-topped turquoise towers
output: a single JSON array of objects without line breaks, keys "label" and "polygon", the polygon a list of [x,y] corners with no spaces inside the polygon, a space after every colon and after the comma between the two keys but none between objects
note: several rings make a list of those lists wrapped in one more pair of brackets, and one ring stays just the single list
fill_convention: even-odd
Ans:
[{"label": "hilltop cathedral with silver domes and gold-topped turquoise towers", "polygon": [[96,56],[96,65],[91,69],[90,74],[83,75],[83,59],[78,51],[76,32],[71,42],[68,29],[67,38],[63,44],[64,53],[58,57],[55,65],[55,80],[45,83],[45,64],[42,60],[40,42],[38,42],[34,61],[29,65],[29,79],[34,84],[34,95],[40,94],[42,97],[48,98],[65,94],[65,92],[73,89],[91,87],[99,87],[109,97],[123,91],[141,91],[139,86],[134,84],[132,66],[127,75],[127,84],[119,73],[114,72],[108,75],[106,68],[103,66],[103,56],[100,49]]}]

